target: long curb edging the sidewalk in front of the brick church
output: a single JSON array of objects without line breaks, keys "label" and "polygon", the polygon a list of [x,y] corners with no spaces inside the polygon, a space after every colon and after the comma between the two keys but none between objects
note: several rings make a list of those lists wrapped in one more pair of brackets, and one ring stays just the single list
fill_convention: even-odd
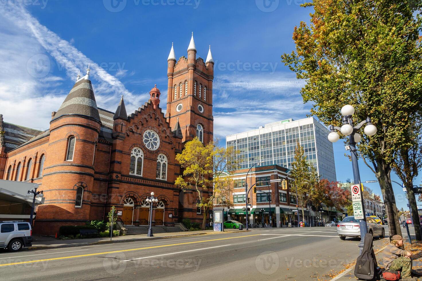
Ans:
[{"label": "long curb edging the sidewalk in front of the brick church", "polygon": [[111,244],[111,243],[127,243],[127,242],[139,242],[143,240],[159,240],[159,239],[168,239],[168,238],[181,238],[188,236],[198,236],[198,235],[208,235],[208,234],[221,234],[221,233],[231,233],[231,232],[249,232],[251,230],[235,230],[235,231],[226,231],[226,232],[211,232],[211,233],[192,233],[192,234],[183,234],[183,235],[168,235],[168,236],[157,236],[157,237],[142,237],[142,238],[133,238],[133,239],[120,239],[120,240],[103,240],[96,241],[92,243],[77,243],[77,244],[65,244],[57,246],[31,246],[28,247],[28,250],[39,250],[39,249],[56,249],[56,248],[70,248],[70,247],[80,247],[80,246],[89,246],[89,245],[100,245],[100,244]]}]

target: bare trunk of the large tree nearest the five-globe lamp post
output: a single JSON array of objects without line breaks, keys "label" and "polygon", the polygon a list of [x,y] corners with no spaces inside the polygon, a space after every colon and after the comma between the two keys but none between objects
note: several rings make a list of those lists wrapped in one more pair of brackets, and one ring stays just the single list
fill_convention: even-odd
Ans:
[{"label": "bare trunk of the large tree nearest the five-globe lamp post", "polygon": [[387,170],[384,160],[378,161],[378,179],[381,187],[382,197],[384,199],[385,208],[387,209],[388,228],[390,237],[393,235],[401,235],[401,228],[398,222],[397,206],[395,203],[394,191],[391,186],[390,179],[391,170]]}]

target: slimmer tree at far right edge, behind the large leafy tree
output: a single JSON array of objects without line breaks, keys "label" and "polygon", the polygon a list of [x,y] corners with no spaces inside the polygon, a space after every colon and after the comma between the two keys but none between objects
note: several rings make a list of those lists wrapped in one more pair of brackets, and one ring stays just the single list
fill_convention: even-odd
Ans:
[{"label": "slimmer tree at far right edge, behind the large leafy tree", "polygon": [[[414,116],[414,123],[408,127],[406,138],[408,144],[398,149],[395,153],[393,164],[394,172],[406,187],[407,197],[412,210],[412,218],[415,225],[420,225],[419,213],[415,194],[413,191],[413,181],[418,176],[422,168],[422,119]],[[415,227],[416,240],[421,240],[419,227]]]}]

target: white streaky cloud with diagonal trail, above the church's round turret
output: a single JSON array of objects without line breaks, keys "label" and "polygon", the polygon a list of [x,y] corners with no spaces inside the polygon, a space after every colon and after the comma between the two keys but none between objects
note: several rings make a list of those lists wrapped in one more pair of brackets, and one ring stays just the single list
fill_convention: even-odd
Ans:
[{"label": "white streaky cloud with diagonal trail, above the church's round turret", "polygon": [[[4,73],[5,75],[0,78],[0,97],[4,103],[13,105],[16,103],[16,97],[21,96],[23,99],[20,99],[19,103],[26,101],[31,103],[32,100],[33,104],[36,104],[35,99],[42,97],[46,98],[43,108],[57,110],[65,93],[70,90],[72,82],[62,85],[65,84],[65,79],[54,76],[52,73],[59,71],[59,74],[64,75],[70,81],[75,81],[79,70],[82,70],[82,75],[85,74],[84,69],[88,64],[91,69],[90,77],[93,81],[98,106],[114,110],[120,95],[124,95],[128,110],[135,110],[139,104],[148,99],[147,93],[134,94],[128,91],[116,77],[125,76],[127,70],[119,70],[116,76],[107,73],[100,67],[100,63],[92,61],[72,46],[73,40],[68,42],[60,38],[31,16],[23,5],[14,5],[8,2],[7,5],[0,5],[0,11],[3,24],[1,34],[6,42],[0,46],[0,58],[5,65],[8,65],[8,73]],[[46,73],[40,73],[43,69],[46,70]],[[6,70],[3,68],[0,71],[5,72]],[[61,87],[57,92],[61,94],[55,95],[57,100],[48,99],[46,92],[51,91],[52,87],[59,86]],[[15,109],[18,108],[15,106]],[[39,108],[40,111],[43,108]],[[7,113],[7,109],[2,109],[2,111]],[[16,115],[16,111],[14,115]],[[11,116],[9,115],[7,118],[11,118]],[[31,122],[26,125],[34,127],[36,124]],[[48,126],[48,122],[43,124]]]}]

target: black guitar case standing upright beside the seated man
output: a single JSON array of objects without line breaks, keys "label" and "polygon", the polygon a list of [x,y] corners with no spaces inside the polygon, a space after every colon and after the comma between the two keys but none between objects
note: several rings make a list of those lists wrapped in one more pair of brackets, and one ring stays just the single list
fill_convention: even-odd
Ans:
[{"label": "black guitar case standing upright beside the seated man", "polygon": [[365,235],[362,254],[360,254],[356,260],[354,276],[359,280],[376,280],[378,272],[377,267],[375,253],[372,248],[372,235],[367,233]]}]

